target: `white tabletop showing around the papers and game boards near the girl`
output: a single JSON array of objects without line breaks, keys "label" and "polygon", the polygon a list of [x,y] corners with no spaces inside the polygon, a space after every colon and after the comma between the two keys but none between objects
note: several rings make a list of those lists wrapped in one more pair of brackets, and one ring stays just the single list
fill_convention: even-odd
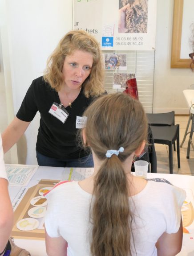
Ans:
[{"label": "white tabletop showing around the papers and game boards near the girl", "polygon": [[[87,168],[77,168],[79,171],[83,170],[83,175],[78,174],[77,176],[72,176],[74,180],[77,180],[77,177],[81,179],[88,175]],[[76,169],[74,169],[76,171]],[[90,169],[91,170],[91,169]],[[194,206],[194,176],[179,175],[179,174],[163,174],[163,173],[148,173],[147,178],[165,178],[172,184],[182,187],[186,190],[191,191],[192,193],[192,203]],[[54,179],[54,180],[67,180],[69,178],[69,168],[58,168],[58,167],[45,167],[40,166],[27,187],[9,187],[9,193],[11,201],[13,204],[16,203],[16,198],[21,198],[24,196],[29,187],[38,184],[40,179]],[[19,204],[20,200],[15,204]],[[193,223],[194,224],[194,223]],[[191,234],[183,235],[183,247],[182,251],[178,256],[194,256],[194,227]],[[193,237],[193,239],[190,239]],[[28,250],[32,256],[46,256],[45,243],[43,240],[29,240],[29,239],[15,239],[15,242],[18,246]]]}]

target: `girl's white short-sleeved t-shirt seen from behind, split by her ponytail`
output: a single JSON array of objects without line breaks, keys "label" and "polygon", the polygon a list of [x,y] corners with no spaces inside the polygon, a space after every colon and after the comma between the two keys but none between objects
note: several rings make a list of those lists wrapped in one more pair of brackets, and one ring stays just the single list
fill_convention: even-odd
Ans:
[{"label": "girl's white short-sleeved t-shirt seen from behind, split by her ponytail", "polygon": [[[164,182],[148,181],[145,188],[129,198],[134,213],[132,255],[157,256],[155,244],[163,234],[176,233],[180,227],[184,190]],[[62,236],[68,242],[68,256],[90,256],[92,224],[89,206],[92,195],[78,182],[58,185],[47,195],[45,227],[50,237]]]}]

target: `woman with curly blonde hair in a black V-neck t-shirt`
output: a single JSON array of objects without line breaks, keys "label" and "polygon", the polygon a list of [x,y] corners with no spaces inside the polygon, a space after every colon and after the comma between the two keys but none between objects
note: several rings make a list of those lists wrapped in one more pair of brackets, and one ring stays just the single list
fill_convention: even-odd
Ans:
[{"label": "woman with curly blonde hair in a black V-neck t-shirt", "polygon": [[105,93],[104,64],[97,40],[83,30],[67,33],[47,61],[44,76],[32,81],[15,119],[2,135],[4,153],[40,112],[36,157],[44,166],[93,166],[76,140],[83,112]]}]

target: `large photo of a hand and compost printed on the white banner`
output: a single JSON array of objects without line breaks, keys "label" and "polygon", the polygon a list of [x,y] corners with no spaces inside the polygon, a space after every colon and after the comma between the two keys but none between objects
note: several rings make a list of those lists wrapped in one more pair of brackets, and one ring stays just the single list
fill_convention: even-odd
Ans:
[{"label": "large photo of a hand and compost printed on the white banner", "polygon": [[118,33],[147,33],[148,0],[119,0]]}]

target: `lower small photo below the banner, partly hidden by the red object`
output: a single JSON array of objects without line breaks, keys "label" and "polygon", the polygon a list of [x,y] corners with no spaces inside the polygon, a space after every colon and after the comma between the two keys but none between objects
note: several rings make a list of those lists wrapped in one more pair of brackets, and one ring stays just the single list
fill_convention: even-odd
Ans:
[{"label": "lower small photo below the banner, partly hidden by the red object", "polygon": [[135,78],[135,74],[115,73],[113,74],[113,89],[126,88],[127,80]]}]

